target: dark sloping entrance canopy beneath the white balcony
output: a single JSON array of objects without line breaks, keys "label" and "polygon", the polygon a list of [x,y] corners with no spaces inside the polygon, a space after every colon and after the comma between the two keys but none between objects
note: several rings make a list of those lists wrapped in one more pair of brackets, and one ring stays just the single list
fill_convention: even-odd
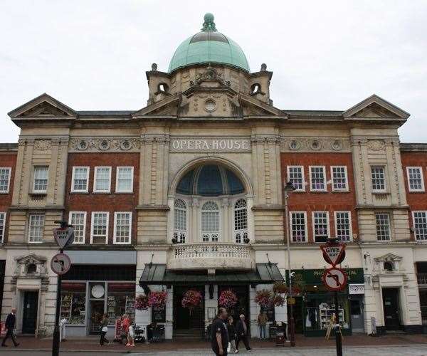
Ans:
[{"label": "dark sloping entrance canopy beneath the white balcony", "polygon": [[257,263],[255,271],[221,271],[216,270],[214,275],[205,271],[168,271],[166,264],[146,263],[139,286],[147,288],[149,285],[185,286],[194,284],[270,284],[284,281],[276,263]]}]

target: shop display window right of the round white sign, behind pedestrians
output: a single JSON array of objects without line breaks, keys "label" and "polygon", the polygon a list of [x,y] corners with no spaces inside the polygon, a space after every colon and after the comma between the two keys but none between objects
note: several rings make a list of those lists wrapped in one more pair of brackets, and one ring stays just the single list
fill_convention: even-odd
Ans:
[{"label": "shop display window right of the round white sign, behind pedestrians", "polygon": [[135,283],[108,283],[107,315],[110,325],[123,314],[135,320]]}]

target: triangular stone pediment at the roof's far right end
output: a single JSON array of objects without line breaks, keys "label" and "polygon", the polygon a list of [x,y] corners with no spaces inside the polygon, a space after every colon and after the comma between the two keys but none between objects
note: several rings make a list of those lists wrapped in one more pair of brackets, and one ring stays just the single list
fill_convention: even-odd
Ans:
[{"label": "triangular stone pediment at the roof's far right end", "polygon": [[406,120],[408,112],[398,108],[396,105],[380,98],[378,95],[371,95],[369,98],[354,105],[349,110],[343,112],[344,119],[392,119]]}]

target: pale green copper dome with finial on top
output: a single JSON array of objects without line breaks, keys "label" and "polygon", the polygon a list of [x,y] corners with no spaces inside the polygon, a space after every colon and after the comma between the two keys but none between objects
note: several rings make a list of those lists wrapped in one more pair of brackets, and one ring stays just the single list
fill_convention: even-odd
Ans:
[{"label": "pale green copper dome with finial on top", "polygon": [[231,38],[216,31],[212,14],[204,16],[203,28],[199,33],[187,38],[176,48],[169,63],[169,73],[200,63],[227,64],[250,72],[242,48]]}]

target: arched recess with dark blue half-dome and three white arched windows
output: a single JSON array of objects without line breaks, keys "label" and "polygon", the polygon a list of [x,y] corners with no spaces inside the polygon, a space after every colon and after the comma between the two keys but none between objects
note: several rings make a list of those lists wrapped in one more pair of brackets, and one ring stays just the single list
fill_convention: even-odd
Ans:
[{"label": "arched recess with dark blue half-dome and three white arched windows", "polygon": [[222,164],[186,172],[176,185],[172,237],[176,243],[248,243],[246,189]]}]

